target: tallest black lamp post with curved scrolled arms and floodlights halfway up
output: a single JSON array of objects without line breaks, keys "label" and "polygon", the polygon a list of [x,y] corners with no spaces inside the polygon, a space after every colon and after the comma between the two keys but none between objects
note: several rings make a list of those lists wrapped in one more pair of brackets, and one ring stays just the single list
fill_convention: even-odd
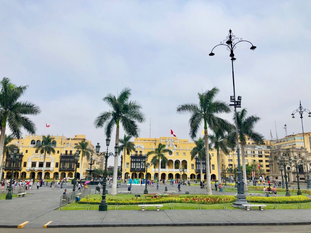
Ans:
[{"label": "tallest black lamp post with curved scrolled arms and floodlights halfway up", "polygon": [[[235,42],[235,40],[237,39],[237,42]],[[225,43],[224,43],[225,41]],[[236,45],[240,42],[248,42],[252,45],[252,47],[250,47],[251,50],[255,50],[256,46],[254,46],[251,42],[247,41],[247,40],[243,40],[242,38],[237,38],[235,37],[235,35],[232,34],[231,29],[229,30],[229,34],[226,37],[226,39],[220,42],[220,44],[216,45],[214,48],[216,48],[219,45],[224,45],[226,47],[227,50],[229,50],[230,52],[230,60],[231,60],[231,66],[232,66],[232,80],[233,80],[233,96],[230,96],[230,102],[232,102],[233,104],[230,104],[230,106],[234,106],[234,115],[235,115],[235,131],[236,131],[236,150],[237,150],[237,155],[238,155],[238,180],[237,180],[237,187],[238,187],[238,194],[236,195],[236,201],[233,203],[234,207],[242,207],[242,204],[248,204],[247,200],[246,200],[246,196],[244,194],[244,181],[242,179],[242,172],[241,172],[241,161],[240,161],[240,149],[239,149],[239,135],[238,135],[238,121],[237,121],[237,115],[236,115],[236,108],[237,107],[241,107],[241,100],[242,97],[238,96],[238,98],[236,99],[235,96],[235,87],[234,87],[234,72],[233,72],[233,62],[236,60],[236,58],[234,57],[234,49],[236,48]],[[214,56],[215,53],[213,53],[212,49],[211,53],[209,54],[209,56]]]}]

